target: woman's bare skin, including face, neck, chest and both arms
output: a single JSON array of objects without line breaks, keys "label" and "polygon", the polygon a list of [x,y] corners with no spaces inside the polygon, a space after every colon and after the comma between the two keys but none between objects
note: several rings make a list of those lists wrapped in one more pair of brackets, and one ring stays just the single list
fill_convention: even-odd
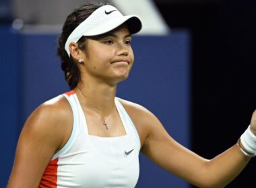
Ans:
[{"label": "woman's bare skin, including face, neck, chest and both arms", "polygon": [[[74,91],[86,113],[89,134],[126,134],[117,109],[112,109],[117,83],[127,79],[133,65],[130,42],[129,31],[121,26],[104,36],[88,39],[86,50],[79,50],[75,43],[69,46],[77,62],[81,58],[84,60],[79,64],[82,81]],[[224,187],[250,160],[241,154],[236,144],[211,160],[202,158],[173,140],[148,109],[123,99],[120,101],[135,124],[141,152],[163,169],[197,187]],[[110,130],[106,130],[100,117],[106,118],[109,113]],[[38,187],[53,154],[69,139],[72,117],[71,107],[61,95],[43,103],[30,115],[18,141],[9,188]],[[251,130],[256,135],[256,111],[251,119]]]}]

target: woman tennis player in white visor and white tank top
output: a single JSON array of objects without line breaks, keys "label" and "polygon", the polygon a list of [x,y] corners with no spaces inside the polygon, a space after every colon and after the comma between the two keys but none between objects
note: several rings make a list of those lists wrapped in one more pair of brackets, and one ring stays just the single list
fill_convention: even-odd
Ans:
[{"label": "woman tennis player in white visor and white tank top", "polygon": [[139,152],[197,187],[224,187],[255,156],[256,112],[234,146],[207,160],[173,140],[148,109],[116,97],[139,30],[139,17],[111,5],[83,5],[67,17],[58,54],[71,91],[26,121],[8,188],[135,187]]}]

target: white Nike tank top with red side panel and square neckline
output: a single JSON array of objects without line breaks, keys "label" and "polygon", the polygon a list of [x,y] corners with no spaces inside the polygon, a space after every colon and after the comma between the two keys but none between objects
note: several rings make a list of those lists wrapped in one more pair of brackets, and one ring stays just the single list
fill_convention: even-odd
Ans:
[{"label": "white Nike tank top with red side panel and square neckline", "polygon": [[49,163],[39,187],[135,187],[139,177],[140,140],[129,115],[115,98],[126,135],[88,134],[86,117],[73,91],[63,94],[73,111],[73,130],[67,144]]}]

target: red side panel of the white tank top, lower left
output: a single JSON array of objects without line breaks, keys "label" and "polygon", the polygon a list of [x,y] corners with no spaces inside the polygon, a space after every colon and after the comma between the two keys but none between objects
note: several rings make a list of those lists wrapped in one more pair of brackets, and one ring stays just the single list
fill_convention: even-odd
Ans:
[{"label": "red side panel of the white tank top, lower left", "polygon": [[42,179],[38,188],[56,188],[57,187],[57,171],[58,171],[58,160],[51,160],[42,175]]}]

